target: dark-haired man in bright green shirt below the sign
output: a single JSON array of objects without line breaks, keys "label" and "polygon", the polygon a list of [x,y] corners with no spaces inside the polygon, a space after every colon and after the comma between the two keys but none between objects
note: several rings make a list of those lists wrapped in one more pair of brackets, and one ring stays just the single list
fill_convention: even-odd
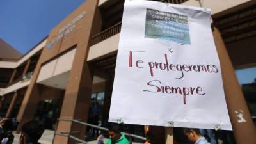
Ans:
[{"label": "dark-haired man in bright green shirt below the sign", "polygon": [[[108,130],[109,139],[106,141],[106,144],[129,144],[127,138],[125,138],[124,134],[121,134],[119,125],[111,125]],[[102,135],[98,138],[98,144],[103,144]]]}]

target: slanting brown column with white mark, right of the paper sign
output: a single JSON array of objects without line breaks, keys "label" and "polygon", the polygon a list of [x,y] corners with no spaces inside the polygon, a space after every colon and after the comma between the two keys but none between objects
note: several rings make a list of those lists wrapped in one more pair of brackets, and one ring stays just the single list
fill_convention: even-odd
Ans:
[{"label": "slanting brown column with white mark, right of the paper sign", "polygon": [[[227,49],[221,38],[220,31],[213,32],[216,49],[220,58],[223,86],[237,144],[256,143],[256,130],[253,125],[243,92],[237,81],[234,68],[228,56]],[[245,50],[246,51],[246,50]]]}]

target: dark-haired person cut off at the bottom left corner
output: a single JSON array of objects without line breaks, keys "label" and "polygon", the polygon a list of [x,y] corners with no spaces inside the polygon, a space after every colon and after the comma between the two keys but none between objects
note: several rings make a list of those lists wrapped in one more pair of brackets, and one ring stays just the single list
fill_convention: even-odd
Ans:
[{"label": "dark-haired person cut off at the bottom left corner", "polygon": [[3,118],[0,120],[0,141],[3,144],[13,143],[12,131],[17,128],[19,122],[15,118]]}]

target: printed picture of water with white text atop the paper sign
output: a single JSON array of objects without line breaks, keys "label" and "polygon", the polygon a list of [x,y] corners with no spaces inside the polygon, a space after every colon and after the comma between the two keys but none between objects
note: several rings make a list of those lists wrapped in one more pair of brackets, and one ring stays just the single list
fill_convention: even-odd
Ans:
[{"label": "printed picture of water with white text atop the paper sign", "polygon": [[190,44],[188,16],[147,8],[145,38]]}]

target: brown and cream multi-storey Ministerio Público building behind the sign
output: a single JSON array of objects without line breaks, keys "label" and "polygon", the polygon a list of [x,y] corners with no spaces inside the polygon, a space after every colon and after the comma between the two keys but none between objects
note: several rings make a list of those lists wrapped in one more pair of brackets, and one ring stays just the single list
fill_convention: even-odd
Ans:
[{"label": "brown and cream multi-storey Ministerio P\u00fablico building behind the sign", "polygon": [[[255,1],[162,2],[211,8],[212,24],[220,29],[234,68],[256,66]],[[1,52],[1,117],[17,118],[18,132],[22,124],[38,118],[57,132],[79,131],[74,136],[81,139],[85,127],[67,121],[56,126],[57,119],[90,122],[91,109],[97,105],[100,122],[107,123],[123,9],[124,0],[87,0],[21,58],[17,52],[10,52],[15,59]],[[255,82],[244,84],[243,90],[255,122]],[[155,132],[163,141],[163,127]],[[72,142],[65,136],[54,138],[54,143],[68,141]]]}]

